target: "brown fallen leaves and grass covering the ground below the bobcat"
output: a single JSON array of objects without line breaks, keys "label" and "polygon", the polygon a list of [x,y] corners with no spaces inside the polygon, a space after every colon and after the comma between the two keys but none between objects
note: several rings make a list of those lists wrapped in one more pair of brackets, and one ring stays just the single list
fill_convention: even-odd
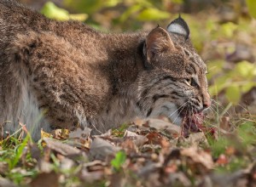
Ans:
[{"label": "brown fallen leaves and grass covering the ground below the bobcat", "polygon": [[[223,117],[219,129],[230,132],[230,119]],[[0,162],[0,186],[256,185],[255,141],[243,145],[239,129],[219,131],[227,137],[223,141],[207,127],[184,138],[181,128],[165,119],[137,120],[102,135],[90,131],[56,130],[42,132],[38,144],[27,140],[13,169]],[[13,183],[10,173],[22,173],[20,181]]]}]

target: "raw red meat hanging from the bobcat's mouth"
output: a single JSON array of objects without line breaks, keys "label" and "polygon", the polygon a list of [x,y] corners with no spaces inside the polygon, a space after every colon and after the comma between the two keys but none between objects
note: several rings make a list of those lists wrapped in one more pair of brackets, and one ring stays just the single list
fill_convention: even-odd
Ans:
[{"label": "raw red meat hanging from the bobcat's mouth", "polygon": [[197,112],[189,116],[183,116],[182,133],[184,137],[188,137],[189,133],[201,132],[203,123],[203,113]]}]

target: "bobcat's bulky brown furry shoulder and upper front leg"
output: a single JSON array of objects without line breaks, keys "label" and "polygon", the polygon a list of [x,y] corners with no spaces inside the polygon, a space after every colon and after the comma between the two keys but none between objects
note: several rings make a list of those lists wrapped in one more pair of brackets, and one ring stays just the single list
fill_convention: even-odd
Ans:
[{"label": "bobcat's bulky brown furry shoulder and upper front leg", "polygon": [[52,127],[90,125],[109,99],[104,67],[88,62],[89,56],[61,37],[47,32],[20,35],[9,55],[15,61],[12,71],[26,77],[27,88]]}]

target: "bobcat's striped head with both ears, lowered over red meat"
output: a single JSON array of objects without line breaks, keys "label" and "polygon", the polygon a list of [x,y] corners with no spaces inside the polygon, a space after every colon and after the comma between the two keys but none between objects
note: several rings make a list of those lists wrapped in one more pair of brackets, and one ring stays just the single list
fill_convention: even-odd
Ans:
[{"label": "bobcat's striped head with both ears, lowered over red meat", "polygon": [[144,116],[163,115],[180,124],[185,117],[191,121],[211,105],[207,67],[195,52],[189,27],[181,17],[167,30],[157,27],[151,31],[143,55],[145,71],[137,79],[137,106]]}]

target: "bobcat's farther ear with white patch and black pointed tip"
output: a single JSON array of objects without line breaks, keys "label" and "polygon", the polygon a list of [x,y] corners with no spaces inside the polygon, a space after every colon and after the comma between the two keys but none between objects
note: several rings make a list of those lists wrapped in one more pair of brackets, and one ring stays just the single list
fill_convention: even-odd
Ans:
[{"label": "bobcat's farther ear with white patch and black pointed tip", "polygon": [[172,20],[169,26],[167,26],[167,31],[174,34],[182,35],[183,37],[185,37],[185,39],[189,38],[189,26],[180,15],[176,20]]}]

